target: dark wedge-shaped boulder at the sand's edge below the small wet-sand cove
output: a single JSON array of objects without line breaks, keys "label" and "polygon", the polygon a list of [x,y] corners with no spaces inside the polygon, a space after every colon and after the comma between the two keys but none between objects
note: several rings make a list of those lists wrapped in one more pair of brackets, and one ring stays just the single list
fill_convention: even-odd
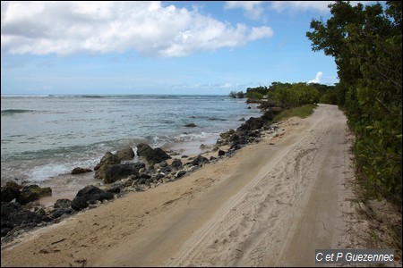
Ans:
[{"label": "dark wedge-shaped boulder at the sand's edge below the small wet-sand cove", "polygon": [[97,201],[110,200],[113,199],[114,195],[95,187],[93,185],[88,185],[77,193],[72,201],[72,207],[74,210],[80,211],[86,208],[90,204],[95,204]]}]

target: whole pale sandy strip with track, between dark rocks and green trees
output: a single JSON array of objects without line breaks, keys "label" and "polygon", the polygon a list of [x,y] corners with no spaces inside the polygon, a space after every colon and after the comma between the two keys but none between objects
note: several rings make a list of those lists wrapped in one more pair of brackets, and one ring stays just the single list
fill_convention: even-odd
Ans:
[{"label": "whole pale sandy strip with track, between dark rocks and green trees", "polygon": [[1,264],[312,266],[315,249],[364,248],[348,136],[339,108],[319,105],[181,180],[26,233],[2,246]]}]

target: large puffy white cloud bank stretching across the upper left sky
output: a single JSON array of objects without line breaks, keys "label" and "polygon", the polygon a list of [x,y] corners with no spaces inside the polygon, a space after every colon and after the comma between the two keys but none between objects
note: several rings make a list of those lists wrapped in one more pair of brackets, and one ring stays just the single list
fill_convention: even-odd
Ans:
[{"label": "large puffy white cloud bank stretching across the upper left sky", "polygon": [[270,38],[267,27],[230,25],[160,2],[2,2],[1,46],[10,54],[106,54],[135,50],[174,57]]}]

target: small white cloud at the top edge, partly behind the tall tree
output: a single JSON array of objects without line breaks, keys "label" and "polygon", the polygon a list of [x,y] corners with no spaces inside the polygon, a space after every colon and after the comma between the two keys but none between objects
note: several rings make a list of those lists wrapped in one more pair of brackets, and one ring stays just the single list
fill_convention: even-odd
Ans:
[{"label": "small white cloud at the top edge, partly behind the tall tree", "polygon": [[[370,4],[375,1],[351,1],[351,5],[356,5],[358,3]],[[319,12],[329,12],[329,4],[334,4],[335,1],[271,1],[271,8],[278,12],[283,11],[306,11],[306,10],[316,10]]]}]

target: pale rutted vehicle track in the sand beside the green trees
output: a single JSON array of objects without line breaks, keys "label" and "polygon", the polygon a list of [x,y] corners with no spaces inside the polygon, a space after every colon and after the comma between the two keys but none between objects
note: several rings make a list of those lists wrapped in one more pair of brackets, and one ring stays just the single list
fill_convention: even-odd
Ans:
[{"label": "pale rutted vehicle track in the sand beside the green trees", "polygon": [[[235,196],[229,198],[210,221],[197,230],[164,265],[262,266],[287,264],[283,261],[288,259],[291,264],[301,264],[299,260],[306,264],[307,261],[313,260],[313,256],[309,255],[312,247],[301,251],[304,253],[303,257],[297,253],[296,247],[304,245],[296,243],[296,240],[298,236],[304,237],[302,233],[309,210],[306,205],[314,206],[313,201],[321,202],[316,198],[315,189],[318,184],[321,184],[319,191],[328,187],[326,184],[329,184],[330,189],[336,188],[337,180],[323,182],[322,179],[324,176],[339,177],[337,167],[342,165],[335,164],[335,168],[329,165],[334,159],[339,159],[344,150],[343,147],[338,148],[338,144],[342,142],[340,139],[344,138],[343,130],[346,124],[344,115],[336,106],[321,105],[319,109],[321,113],[315,112],[307,119],[311,123],[309,130],[300,133],[301,137],[293,146],[284,148],[270,163],[264,165],[261,171]],[[324,174],[323,170],[330,172]],[[328,194],[326,192],[324,195]],[[329,196],[331,200],[327,203],[335,207],[337,195],[335,197],[330,193]],[[318,213],[317,209],[313,211]],[[333,213],[334,210],[331,210],[330,214]],[[322,230],[325,230],[325,226],[328,232],[335,225],[331,223],[334,219],[329,215],[324,221],[316,219],[314,214],[308,215],[308,220],[315,223],[313,230],[318,228],[318,222]],[[308,237],[314,236],[313,230],[308,232],[309,235],[305,235],[304,239],[308,240],[303,242],[322,248],[319,247],[321,244],[314,243],[314,238]],[[330,235],[321,233],[322,235],[327,237],[325,240],[331,240],[333,232],[330,232]],[[318,241],[321,241],[321,236]],[[297,246],[291,247],[292,245]],[[291,258],[288,258],[288,249],[297,257],[293,258],[291,255]]]}]

